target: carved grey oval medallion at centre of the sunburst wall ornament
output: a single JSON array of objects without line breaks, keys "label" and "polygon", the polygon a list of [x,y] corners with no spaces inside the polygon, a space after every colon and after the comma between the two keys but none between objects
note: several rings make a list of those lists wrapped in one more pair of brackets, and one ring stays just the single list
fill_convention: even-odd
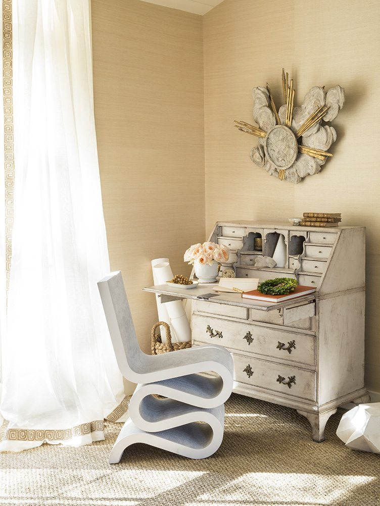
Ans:
[{"label": "carved grey oval medallion at centre of the sunburst wall ornament", "polygon": [[297,158],[298,143],[293,132],[285,125],[275,125],[264,140],[267,157],[279,170],[285,170]]}]

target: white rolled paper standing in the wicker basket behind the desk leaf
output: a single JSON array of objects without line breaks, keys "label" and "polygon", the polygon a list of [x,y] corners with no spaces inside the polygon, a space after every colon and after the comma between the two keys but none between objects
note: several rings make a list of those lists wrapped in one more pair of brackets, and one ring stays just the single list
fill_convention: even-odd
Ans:
[{"label": "white rolled paper standing in the wicker basket behind the desk leaf", "polygon": [[[169,259],[159,258],[151,261],[153,280],[155,285],[165,284],[173,278]],[[170,326],[173,343],[191,341],[192,331],[188,323],[181,301],[161,303],[156,295],[157,311],[160,321],[165,321]],[[165,331],[161,332],[161,339],[165,342]]]}]

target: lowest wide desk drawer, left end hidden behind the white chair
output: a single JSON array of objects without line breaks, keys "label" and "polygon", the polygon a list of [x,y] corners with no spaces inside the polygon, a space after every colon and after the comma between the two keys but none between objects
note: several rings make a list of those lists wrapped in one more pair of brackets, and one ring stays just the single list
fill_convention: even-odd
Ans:
[{"label": "lowest wide desk drawer, left end hidden behind the white chair", "polygon": [[235,353],[233,357],[235,381],[272,390],[282,395],[315,400],[316,374],[314,371]]}]

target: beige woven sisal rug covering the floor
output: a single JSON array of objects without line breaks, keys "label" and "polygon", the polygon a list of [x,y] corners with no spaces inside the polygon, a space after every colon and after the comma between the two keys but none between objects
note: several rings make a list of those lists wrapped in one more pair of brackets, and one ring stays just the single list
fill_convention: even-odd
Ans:
[{"label": "beige woven sisal rug covering the floor", "polygon": [[90,446],[0,454],[0,505],[378,506],[380,455],[345,447],[335,435],[342,413],[314,443],[295,410],[233,394],[212,457],[134,445],[112,466],[121,425],[108,424],[105,441]]}]

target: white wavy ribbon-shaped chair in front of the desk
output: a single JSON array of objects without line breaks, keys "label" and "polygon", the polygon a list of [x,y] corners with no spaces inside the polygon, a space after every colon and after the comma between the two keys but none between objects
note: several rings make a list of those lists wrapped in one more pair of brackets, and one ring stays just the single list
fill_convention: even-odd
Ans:
[{"label": "white wavy ribbon-shaped chair in front of the desk", "polygon": [[[98,287],[119,369],[138,384],[109,462],[119,462],[133,443],[190,458],[212,455],[223,439],[224,402],[233,388],[231,354],[214,345],[146,355],[137,342],[121,272],[109,274]],[[217,375],[200,374],[206,371]]]}]

